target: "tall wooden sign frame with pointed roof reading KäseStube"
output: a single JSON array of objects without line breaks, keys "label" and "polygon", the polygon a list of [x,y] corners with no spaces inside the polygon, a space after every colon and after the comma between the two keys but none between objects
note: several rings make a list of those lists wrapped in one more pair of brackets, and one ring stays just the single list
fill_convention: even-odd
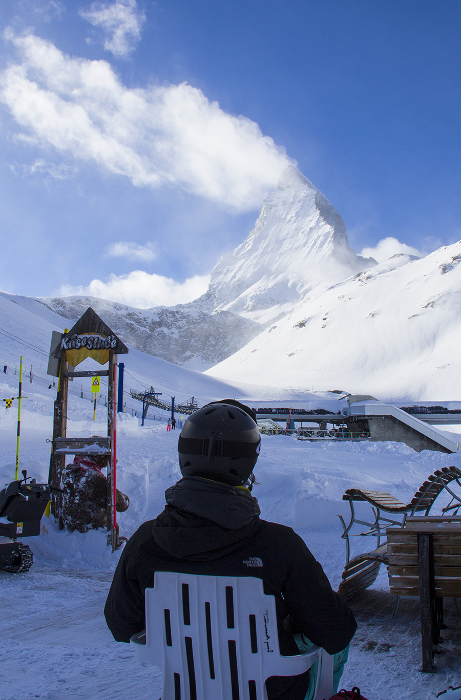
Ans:
[{"label": "tall wooden sign frame with pointed roof reading K\u00e4seStube", "polygon": [[[73,328],[64,332],[60,344],[52,356],[59,359],[59,383],[55,400],[53,417],[53,440],[51,441],[50,473],[48,482],[55,489],[61,489],[62,471],[66,455],[103,455],[107,466],[107,531],[108,544],[112,551],[118,547],[116,531],[116,372],[119,354],[128,353],[128,347],[111,331],[99,316],[88,308],[78,319]],[[74,367],[85,358],[91,357],[100,365],[108,364],[107,370],[91,370],[76,372]],[[71,365],[73,371],[69,371]],[[107,435],[93,437],[67,437],[67,402],[69,379],[74,377],[107,377]],[[93,381],[95,381],[93,379]],[[97,384],[92,384],[92,391],[99,391]],[[96,393],[95,393],[96,400]],[[51,505],[51,512],[59,522],[60,529],[64,528],[62,517],[62,493],[55,491],[57,496]]]}]

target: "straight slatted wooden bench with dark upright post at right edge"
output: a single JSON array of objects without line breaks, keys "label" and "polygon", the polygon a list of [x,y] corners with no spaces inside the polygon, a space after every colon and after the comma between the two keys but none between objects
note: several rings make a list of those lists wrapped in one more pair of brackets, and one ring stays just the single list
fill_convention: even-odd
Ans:
[{"label": "straight slatted wooden bench with dark upright post at right edge", "polygon": [[404,528],[390,527],[386,534],[390,593],[419,596],[421,670],[434,671],[443,598],[461,598],[461,517],[408,518]]}]

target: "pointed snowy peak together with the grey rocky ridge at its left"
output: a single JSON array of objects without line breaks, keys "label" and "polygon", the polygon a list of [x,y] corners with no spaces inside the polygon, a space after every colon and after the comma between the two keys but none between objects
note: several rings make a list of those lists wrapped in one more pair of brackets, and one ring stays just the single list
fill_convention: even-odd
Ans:
[{"label": "pointed snowy peak together with the grey rocky ridge at its left", "polygon": [[207,293],[189,304],[135,309],[95,297],[41,299],[75,321],[88,306],[125,343],[179,365],[205,370],[233,355],[308,290],[366,267],[348,244],[345,224],[312,183],[288,167],[267,197],[254,230],[216,264]]}]

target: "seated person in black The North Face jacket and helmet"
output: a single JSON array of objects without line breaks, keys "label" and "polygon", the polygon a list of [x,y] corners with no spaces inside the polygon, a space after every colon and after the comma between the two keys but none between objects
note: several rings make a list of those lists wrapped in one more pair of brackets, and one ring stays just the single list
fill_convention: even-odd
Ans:
[{"label": "seated person in black The North Face jacket and helmet", "polygon": [[[145,628],[144,591],[156,571],[258,577],[275,596],[280,652],[317,644],[335,654],[336,692],[357,624],[303,540],[260,519],[251,493],[260,447],[256,414],[238,401],[212,402],[188,417],[178,443],[182,478],[165,492],[165,510],[125,545],[106,622],[120,642]],[[310,678],[309,671],[269,678],[269,700],[308,700]]]}]

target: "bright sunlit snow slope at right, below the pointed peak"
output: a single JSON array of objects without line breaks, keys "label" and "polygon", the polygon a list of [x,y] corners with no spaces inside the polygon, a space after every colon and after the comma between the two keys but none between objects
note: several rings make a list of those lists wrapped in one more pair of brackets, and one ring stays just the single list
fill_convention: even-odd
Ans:
[{"label": "bright sunlit snow slope at right, below the pointed peak", "polygon": [[[461,398],[461,241],[399,256],[327,290],[208,374],[380,400]],[[400,262],[404,265],[396,267]],[[392,269],[394,267],[394,269]]]}]

